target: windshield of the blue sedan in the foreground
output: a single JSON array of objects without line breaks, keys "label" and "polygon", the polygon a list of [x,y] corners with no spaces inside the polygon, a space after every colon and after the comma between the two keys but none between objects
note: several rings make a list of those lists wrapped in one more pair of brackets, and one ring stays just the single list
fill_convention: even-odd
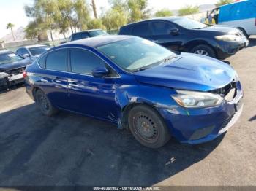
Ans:
[{"label": "windshield of the blue sedan in the foreground", "polygon": [[176,56],[154,42],[137,37],[105,44],[97,49],[126,71],[146,69]]}]

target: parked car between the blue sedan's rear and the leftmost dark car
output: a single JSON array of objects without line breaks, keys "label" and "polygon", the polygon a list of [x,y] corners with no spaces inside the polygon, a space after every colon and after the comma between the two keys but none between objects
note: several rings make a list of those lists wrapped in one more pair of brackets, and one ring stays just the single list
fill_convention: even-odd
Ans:
[{"label": "parked car between the blue sedan's rear and the leftmost dark car", "polygon": [[25,47],[19,47],[16,50],[16,54],[23,58],[30,58],[31,61],[35,61],[39,55],[49,50],[50,47],[42,44],[34,44]]}]

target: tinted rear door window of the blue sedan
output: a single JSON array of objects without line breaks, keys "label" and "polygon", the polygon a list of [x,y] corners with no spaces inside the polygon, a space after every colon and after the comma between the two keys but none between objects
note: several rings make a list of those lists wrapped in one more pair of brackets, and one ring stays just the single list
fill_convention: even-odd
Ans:
[{"label": "tinted rear door window of the blue sedan", "polygon": [[46,69],[67,71],[67,49],[55,50],[48,53]]}]

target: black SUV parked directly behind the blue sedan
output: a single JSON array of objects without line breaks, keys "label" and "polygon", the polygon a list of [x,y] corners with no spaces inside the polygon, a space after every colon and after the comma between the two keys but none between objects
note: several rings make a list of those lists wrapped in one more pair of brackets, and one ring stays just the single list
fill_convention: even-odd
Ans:
[{"label": "black SUV parked directly behind the blue sedan", "polygon": [[248,39],[236,28],[207,26],[187,17],[162,17],[123,26],[119,34],[140,36],[170,50],[224,60],[246,47]]}]

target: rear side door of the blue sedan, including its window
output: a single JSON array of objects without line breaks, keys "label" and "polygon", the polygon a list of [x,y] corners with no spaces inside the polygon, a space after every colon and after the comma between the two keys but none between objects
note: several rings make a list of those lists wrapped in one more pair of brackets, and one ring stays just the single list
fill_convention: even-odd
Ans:
[{"label": "rear side door of the blue sedan, including its window", "polygon": [[67,96],[67,49],[54,50],[39,59],[42,70],[37,74],[39,87],[53,106],[68,109]]}]

